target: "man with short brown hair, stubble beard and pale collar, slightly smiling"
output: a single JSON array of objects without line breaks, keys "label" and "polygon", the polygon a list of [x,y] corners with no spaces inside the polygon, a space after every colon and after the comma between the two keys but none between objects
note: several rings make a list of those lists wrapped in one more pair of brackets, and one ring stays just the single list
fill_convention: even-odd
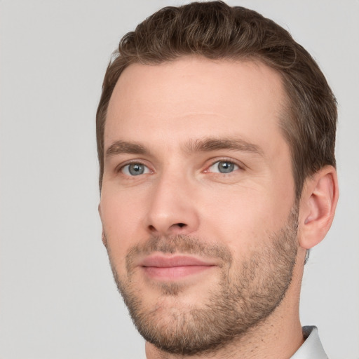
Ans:
[{"label": "man with short brown hair, stubble beard and pale collar, slightly smiling", "polygon": [[316,62],[254,11],[163,8],[123,37],[99,211],[147,358],[327,358],[299,292],[337,204],[336,123]]}]

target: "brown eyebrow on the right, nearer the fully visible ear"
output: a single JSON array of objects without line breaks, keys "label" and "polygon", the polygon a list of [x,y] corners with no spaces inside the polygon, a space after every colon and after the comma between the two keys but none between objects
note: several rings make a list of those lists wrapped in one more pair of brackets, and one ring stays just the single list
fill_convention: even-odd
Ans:
[{"label": "brown eyebrow on the right, nearer the fully visible ear", "polygon": [[185,149],[189,152],[210,152],[220,149],[244,151],[264,156],[263,150],[257,146],[238,138],[205,138],[204,140],[190,141]]}]

